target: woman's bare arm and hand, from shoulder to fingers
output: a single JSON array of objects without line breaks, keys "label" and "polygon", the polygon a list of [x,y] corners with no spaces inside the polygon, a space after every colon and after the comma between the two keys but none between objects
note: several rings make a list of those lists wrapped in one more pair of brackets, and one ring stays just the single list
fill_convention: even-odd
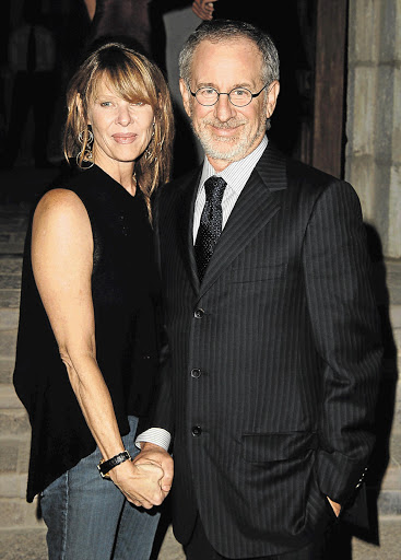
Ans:
[{"label": "woman's bare arm and hand, from shoulder to fingers", "polygon": [[[103,457],[108,459],[122,452],[123,444],[96,362],[91,222],[84,205],[71,190],[54,189],[37,206],[32,264],[71,386]],[[163,470],[154,465],[126,462],[111,469],[110,477],[133,503],[151,508],[163,501]]]}]

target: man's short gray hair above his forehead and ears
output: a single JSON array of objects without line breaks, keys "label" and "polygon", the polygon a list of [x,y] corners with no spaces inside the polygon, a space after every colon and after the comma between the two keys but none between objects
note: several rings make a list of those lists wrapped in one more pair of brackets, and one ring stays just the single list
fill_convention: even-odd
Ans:
[{"label": "man's short gray hair above his forehead and ears", "polygon": [[259,49],[263,66],[261,79],[271,83],[280,79],[279,54],[270,35],[245,22],[211,20],[201,23],[185,42],[179,54],[179,75],[189,86],[193,54],[202,40],[224,43],[236,38],[247,38]]}]

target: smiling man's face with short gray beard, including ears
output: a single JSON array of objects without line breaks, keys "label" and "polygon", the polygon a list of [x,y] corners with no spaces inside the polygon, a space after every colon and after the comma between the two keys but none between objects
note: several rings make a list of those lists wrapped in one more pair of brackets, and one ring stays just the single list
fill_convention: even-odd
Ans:
[{"label": "smiling man's face with short gray beard, including ears", "polygon": [[[225,93],[234,88],[246,88],[257,93],[266,85],[261,77],[262,57],[250,39],[203,40],[193,55],[190,88],[196,92],[199,88],[210,86]],[[275,107],[279,82],[273,82],[269,94],[263,91],[246,107],[236,107],[227,95],[221,95],[213,106],[203,106],[188,92],[182,80],[180,90],[194,133],[210,163],[216,171],[222,171],[248,155],[261,142],[266,119]]]}]

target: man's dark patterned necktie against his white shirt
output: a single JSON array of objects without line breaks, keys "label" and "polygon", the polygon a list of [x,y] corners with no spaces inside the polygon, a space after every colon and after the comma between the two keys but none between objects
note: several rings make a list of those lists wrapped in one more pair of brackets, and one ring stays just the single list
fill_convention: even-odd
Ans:
[{"label": "man's dark patterned necktie against his white shirt", "polygon": [[222,233],[222,200],[226,185],[226,182],[222,177],[215,177],[214,175],[204,183],[207,201],[194,243],[194,257],[200,281],[203,280],[204,271],[208,268],[215,244]]}]

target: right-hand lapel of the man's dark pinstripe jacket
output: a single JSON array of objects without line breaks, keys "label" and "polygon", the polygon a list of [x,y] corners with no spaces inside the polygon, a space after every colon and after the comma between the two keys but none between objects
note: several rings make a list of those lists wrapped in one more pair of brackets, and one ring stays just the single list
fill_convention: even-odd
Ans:
[{"label": "right-hand lapel of the man's dark pinstripe jacket", "polygon": [[280,210],[280,197],[276,192],[285,188],[285,159],[268,147],[228,218],[207,268],[199,295],[216,281],[250,240]]}]

